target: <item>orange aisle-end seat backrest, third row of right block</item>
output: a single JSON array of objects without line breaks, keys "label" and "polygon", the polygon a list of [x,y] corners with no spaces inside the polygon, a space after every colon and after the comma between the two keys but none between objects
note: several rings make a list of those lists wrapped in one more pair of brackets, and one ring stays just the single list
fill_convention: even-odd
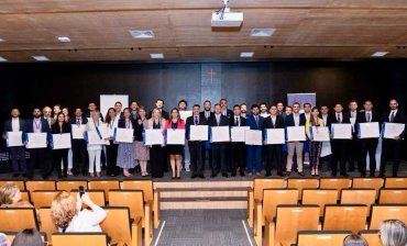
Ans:
[{"label": "orange aisle-end seat backrest, third row of right block", "polygon": [[317,231],[318,205],[277,205],[275,245],[290,245],[299,231]]}]

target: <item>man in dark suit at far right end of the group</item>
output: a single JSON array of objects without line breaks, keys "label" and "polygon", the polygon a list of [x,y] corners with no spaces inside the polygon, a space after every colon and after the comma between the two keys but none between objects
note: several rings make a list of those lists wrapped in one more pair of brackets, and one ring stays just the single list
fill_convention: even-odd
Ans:
[{"label": "man in dark suit at far right end of the group", "polygon": [[[396,99],[389,101],[391,110],[384,113],[382,121],[388,123],[406,124],[406,115],[398,109],[398,102]],[[382,158],[381,158],[381,171],[380,177],[385,176],[386,160],[388,156],[393,154],[393,177],[397,177],[398,166],[400,164],[400,157],[403,152],[403,138],[406,136],[406,128],[399,136],[394,139],[384,138],[382,146]]]}]

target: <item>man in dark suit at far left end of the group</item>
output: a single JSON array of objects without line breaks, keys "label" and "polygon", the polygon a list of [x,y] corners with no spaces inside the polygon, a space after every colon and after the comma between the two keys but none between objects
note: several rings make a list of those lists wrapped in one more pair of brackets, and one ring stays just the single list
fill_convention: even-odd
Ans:
[{"label": "man in dark suit at far left end of the group", "polygon": [[[11,110],[11,119],[7,120],[4,123],[3,138],[7,141],[8,132],[23,132],[25,121],[20,119],[20,111],[16,108]],[[24,146],[9,147],[9,156],[13,167],[13,178],[20,175],[25,176],[26,165],[25,165],[25,148]],[[19,167],[20,164],[20,167]]]}]

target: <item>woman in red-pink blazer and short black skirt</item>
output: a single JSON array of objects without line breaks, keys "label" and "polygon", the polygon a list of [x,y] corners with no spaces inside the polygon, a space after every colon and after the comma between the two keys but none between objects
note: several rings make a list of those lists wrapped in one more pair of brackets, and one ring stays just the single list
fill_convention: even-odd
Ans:
[{"label": "woman in red-pink blazer and short black skirt", "polygon": [[[174,108],[169,112],[169,119],[165,121],[164,128],[176,130],[185,128],[185,123],[179,116],[179,111]],[[184,134],[183,134],[184,135]],[[167,154],[169,155],[170,168],[173,170],[173,179],[180,179],[180,156],[184,152],[183,145],[167,145]]]}]

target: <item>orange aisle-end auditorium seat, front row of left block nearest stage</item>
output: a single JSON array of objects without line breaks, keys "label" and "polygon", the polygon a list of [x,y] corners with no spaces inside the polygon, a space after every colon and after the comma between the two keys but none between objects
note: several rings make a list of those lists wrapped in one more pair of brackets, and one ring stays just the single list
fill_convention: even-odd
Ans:
[{"label": "orange aisle-end auditorium seat, front row of left block nearest stage", "polygon": [[122,189],[142,190],[144,193],[144,201],[153,204],[153,220],[154,228],[158,227],[160,224],[160,190],[153,189],[152,179],[143,180],[123,180]]}]

